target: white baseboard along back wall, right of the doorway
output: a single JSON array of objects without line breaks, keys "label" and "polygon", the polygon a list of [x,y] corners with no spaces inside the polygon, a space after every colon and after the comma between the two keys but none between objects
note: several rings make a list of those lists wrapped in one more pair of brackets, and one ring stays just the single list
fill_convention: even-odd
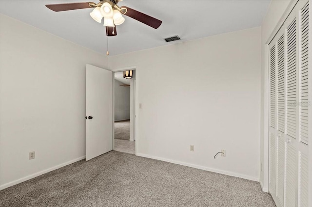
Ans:
[{"label": "white baseboard along back wall, right of the doorway", "polygon": [[214,168],[207,168],[207,167],[200,166],[200,165],[194,165],[194,164],[190,164],[190,163],[186,163],[186,162],[176,161],[176,160],[172,160],[172,159],[166,159],[166,158],[152,156],[152,155],[146,155],[146,154],[142,154],[142,153],[137,153],[136,155],[146,157],[146,158],[151,158],[151,159],[157,159],[157,160],[161,160],[161,161],[165,161],[165,162],[170,162],[170,163],[174,163],[174,164],[178,164],[178,165],[183,165],[183,166],[187,166],[187,167],[191,167],[191,168],[196,168],[196,169],[200,169],[200,170],[204,170],[204,171],[226,174],[226,175],[230,175],[230,176],[234,176],[234,177],[240,177],[240,178],[244,178],[247,180],[253,180],[253,181],[259,182],[258,177],[253,177],[253,176],[249,176],[249,175],[245,175],[245,174],[233,173],[233,172],[218,170],[218,169],[214,169]]}]

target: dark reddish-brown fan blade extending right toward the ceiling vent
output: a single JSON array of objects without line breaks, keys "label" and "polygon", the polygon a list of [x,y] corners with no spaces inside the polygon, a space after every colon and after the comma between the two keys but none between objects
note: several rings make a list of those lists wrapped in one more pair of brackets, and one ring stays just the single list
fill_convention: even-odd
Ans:
[{"label": "dark reddish-brown fan blade extending right toward the ceiling vent", "polygon": [[127,12],[124,13],[124,15],[131,17],[131,18],[134,18],[134,19],[136,19],[136,20],[138,20],[138,21],[140,21],[140,22],[142,22],[142,23],[144,23],[150,27],[153,27],[155,29],[157,29],[162,23],[162,21],[160,21],[159,19],[148,16],[148,15],[143,14],[141,12],[138,12],[138,11],[131,9],[127,6],[121,6],[120,8],[121,9],[127,9]]}]

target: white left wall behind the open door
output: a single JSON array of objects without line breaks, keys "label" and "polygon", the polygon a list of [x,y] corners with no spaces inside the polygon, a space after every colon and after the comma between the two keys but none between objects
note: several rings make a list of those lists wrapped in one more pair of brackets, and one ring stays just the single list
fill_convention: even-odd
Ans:
[{"label": "white left wall behind the open door", "polygon": [[[85,155],[85,64],[107,57],[0,16],[0,188]],[[28,160],[28,153],[36,158]]]}]

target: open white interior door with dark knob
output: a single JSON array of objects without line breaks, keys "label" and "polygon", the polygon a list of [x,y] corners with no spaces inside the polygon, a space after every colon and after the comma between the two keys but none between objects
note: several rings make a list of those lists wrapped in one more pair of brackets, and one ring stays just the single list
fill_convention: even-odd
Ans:
[{"label": "open white interior door with dark knob", "polygon": [[113,73],[86,65],[86,160],[112,150]]}]

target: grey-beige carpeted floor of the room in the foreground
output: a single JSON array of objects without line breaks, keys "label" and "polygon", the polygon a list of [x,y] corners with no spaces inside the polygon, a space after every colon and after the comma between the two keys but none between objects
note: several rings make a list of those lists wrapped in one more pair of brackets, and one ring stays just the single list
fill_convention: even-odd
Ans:
[{"label": "grey-beige carpeted floor of the room in the foreground", "polygon": [[0,191],[1,207],[274,207],[258,182],[111,151]]}]

